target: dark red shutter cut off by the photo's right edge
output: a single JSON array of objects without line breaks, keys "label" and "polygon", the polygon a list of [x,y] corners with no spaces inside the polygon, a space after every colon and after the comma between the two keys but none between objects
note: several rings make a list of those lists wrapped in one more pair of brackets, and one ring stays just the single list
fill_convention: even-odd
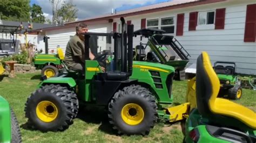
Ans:
[{"label": "dark red shutter cut off by the photo's right edge", "polygon": [[255,42],[256,38],[256,4],[247,5],[245,22],[245,42]]}]

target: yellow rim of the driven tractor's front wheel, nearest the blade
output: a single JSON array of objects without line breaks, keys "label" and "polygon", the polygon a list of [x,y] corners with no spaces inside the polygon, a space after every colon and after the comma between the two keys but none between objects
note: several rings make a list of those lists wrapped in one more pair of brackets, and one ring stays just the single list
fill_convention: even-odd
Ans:
[{"label": "yellow rim of the driven tractor's front wheel, nearest the blade", "polygon": [[144,111],[135,103],[126,104],[121,111],[123,121],[128,125],[138,125],[144,118]]}]

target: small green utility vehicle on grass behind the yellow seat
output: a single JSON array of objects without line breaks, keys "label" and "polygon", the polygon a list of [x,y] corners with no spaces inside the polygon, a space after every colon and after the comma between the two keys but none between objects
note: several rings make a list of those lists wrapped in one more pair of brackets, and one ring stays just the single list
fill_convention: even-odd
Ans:
[{"label": "small green utility vehicle on grass behind the yellow seat", "polygon": [[219,97],[227,95],[229,99],[240,99],[242,96],[241,83],[238,81],[234,62],[217,61],[214,70],[220,80]]}]

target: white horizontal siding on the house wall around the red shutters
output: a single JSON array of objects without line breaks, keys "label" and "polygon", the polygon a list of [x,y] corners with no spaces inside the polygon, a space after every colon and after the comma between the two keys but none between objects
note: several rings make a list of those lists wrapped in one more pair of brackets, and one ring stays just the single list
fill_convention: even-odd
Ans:
[{"label": "white horizontal siding on the house wall around the red shutters", "polygon": [[[208,52],[212,63],[215,61],[232,61],[237,63],[237,72],[256,75],[256,42],[244,42],[246,5],[255,1],[231,1],[215,4],[193,6],[185,9],[167,10],[139,16],[126,17],[132,20],[134,31],[140,29],[142,18],[153,19],[173,17],[176,26],[178,13],[185,13],[183,36],[177,36],[180,44],[191,54],[190,64],[196,63],[202,51]],[[226,8],[224,30],[188,31],[189,13]],[[114,19],[119,22],[119,19]],[[176,27],[174,28],[176,35]],[[147,40],[144,38],[143,42]],[[133,39],[133,46],[139,44],[139,37]]]}]

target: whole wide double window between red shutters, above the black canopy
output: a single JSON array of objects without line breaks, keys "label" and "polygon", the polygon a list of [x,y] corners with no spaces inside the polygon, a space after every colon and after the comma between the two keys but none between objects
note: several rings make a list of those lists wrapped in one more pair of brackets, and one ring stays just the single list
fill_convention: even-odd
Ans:
[{"label": "whole wide double window between red shutters, above the black canopy", "polygon": [[147,28],[158,28],[166,31],[166,33],[174,33],[174,17],[149,19],[147,20]]}]

